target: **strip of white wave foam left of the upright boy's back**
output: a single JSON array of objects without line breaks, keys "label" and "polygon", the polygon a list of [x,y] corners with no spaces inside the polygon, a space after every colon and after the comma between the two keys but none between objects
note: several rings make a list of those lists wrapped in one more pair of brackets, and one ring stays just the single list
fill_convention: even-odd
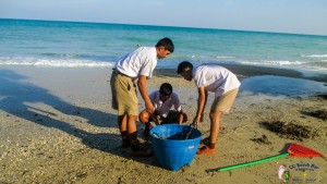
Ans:
[{"label": "strip of white wave foam left of the upright boy's back", "polygon": [[51,68],[97,68],[112,66],[113,62],[92,61],[78,59],[35,59],[35,58],[2,58],[0,57],[0,65],[35,65],[35,66],[51,66]]}]

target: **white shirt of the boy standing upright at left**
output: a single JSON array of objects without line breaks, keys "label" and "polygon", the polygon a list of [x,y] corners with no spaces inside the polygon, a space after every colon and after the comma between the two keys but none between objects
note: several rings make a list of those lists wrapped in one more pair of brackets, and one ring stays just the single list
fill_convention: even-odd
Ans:
[{"label": "white shirt of the boy standing upright at left", "polygon": [[156,47],[140,47],[118,60],[114,68],[133,79],[138,78],[140,75],[150,78],[157,65],[157,59]]}]

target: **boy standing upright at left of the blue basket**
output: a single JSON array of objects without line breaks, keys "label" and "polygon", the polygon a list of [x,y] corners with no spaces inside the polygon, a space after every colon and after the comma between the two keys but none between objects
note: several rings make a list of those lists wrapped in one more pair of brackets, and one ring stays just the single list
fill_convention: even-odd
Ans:
[{"label": "boy standing upright at left of the blue basket", "polygon": [[137,140],[136,84],[144,99],[146,111],[152,113],[154,105],[148,97],[146,82],[153,76],[157,60],[166,58],[173,50],[171,39],[162,38],[155,47],[140,47],[116,62],[110,78],[112,108],[118,111],[118,127],[122,136],[122,147],[131,147],[133,156],[152,155],[149,149],[142,149]]}]

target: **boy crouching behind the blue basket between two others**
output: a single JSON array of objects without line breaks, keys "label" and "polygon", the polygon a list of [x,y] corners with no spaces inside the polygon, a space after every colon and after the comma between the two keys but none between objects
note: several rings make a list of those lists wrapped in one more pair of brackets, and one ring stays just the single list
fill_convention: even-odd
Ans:
[{"label": "boy crouching behind the blue basket between two others", "polygon": [[[177,123],[182,124],[187,121],[187,114],[182,111],[180,99],[175,93],[172,91],[172,86],[169,83],[164,83],[159,90],[155,90],[149,95],[149,99],[155,106],[155,111],[148,113],[143,110],[140,113],[140,121],[145,125],[144,135],[149,135],[152,128],[150,122],[159,124]],[[174,110],[171,110],[171,108]]]}]

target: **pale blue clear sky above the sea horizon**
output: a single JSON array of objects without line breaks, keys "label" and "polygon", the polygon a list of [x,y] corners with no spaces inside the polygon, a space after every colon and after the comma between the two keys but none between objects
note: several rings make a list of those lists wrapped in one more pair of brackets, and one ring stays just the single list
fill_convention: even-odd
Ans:
[{"label": "pale blue clear sky above the sea horizon", "polygon": [[0,0],[0,19],[327,35],[327,0]]}]

